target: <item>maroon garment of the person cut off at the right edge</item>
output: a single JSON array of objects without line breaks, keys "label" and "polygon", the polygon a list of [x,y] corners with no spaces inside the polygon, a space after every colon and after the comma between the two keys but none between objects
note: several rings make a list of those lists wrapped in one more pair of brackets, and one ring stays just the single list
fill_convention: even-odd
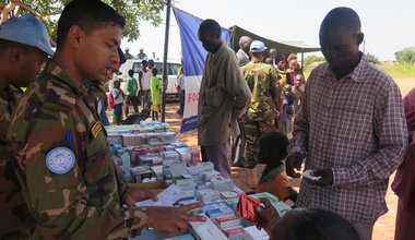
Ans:
[{"label": "maroon garment of the person cut off at the right edge", "polygon": [[395,240],[413,240],[415,236],[415,88],[404,97],[403,103],[410,146],[392,183],[392,190],[399,196]]}]

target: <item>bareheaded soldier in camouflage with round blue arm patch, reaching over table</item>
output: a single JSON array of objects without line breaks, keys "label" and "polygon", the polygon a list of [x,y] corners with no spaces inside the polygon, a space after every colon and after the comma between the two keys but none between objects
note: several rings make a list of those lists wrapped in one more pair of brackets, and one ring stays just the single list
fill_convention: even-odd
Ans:
[{"label": "bareheaded soldier in camouflage with round blue arm patch, reaching over table", "polygon": [[58,22],[57,52],[20,100],[8,136],[13,167],[36,220],[35,239],[119,239],[144,226],[183,232],[201,203],[137,207],[155,197],[119,181],[106,132],[85,100],[85,79],[118,60],[124,20],[100,1],[73,0]]}]

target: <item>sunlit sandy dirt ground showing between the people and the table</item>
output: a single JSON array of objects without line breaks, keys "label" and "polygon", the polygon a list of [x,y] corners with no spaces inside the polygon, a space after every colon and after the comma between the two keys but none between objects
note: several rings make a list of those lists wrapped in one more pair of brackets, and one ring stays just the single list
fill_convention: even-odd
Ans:
[{"label": "sunlit sandy dirt ground showing between the people and the table", "polygon": [[[405,96],[412,88],[415,87],[415,76],[414,79],[401,79],[401,80],[395,80],[395,81],[401,88],[402,96]],[[170,103],[167,105],[166,122],[170,124],[171,130],[174,132],[178,133],[178,140],[188,144],[194,151],[199,151],[197,131],[191,131],[185,134],[179,133],[181,119],[179,119],[179,116],[176,113],[177,108],[178,108],[177,103]],[[236,185],[238,185],[239,188],[244,190],[248,189],[247,179],[246,179],[244,169],[233,168],[232,175],[233,175],[233,179]],[[391,177],[391,181],[393,177],[394,176]],[[290,182],[293,187],[298,188],[300,180],[290,179]],[[388,189],[386,199],[387,199],[389,212],[386,215],[381,216],[379,220],[376,223],[375,229],[374,229],[374,238],[372,238],[374,240],[392,240],[393,239],[398,199],[390,188]]]}]

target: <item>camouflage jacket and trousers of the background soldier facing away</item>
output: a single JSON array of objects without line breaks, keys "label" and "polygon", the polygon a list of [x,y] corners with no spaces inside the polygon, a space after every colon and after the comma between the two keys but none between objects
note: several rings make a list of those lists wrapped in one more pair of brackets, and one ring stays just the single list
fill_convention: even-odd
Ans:
[{"label": "camouflage jacket and trousers of the background soldier facing away", "polygon": [[247,151],[244,167],[253,168],[257,165],[258,139],[276,129],[275,118],[282,106],[282,91],[274,67],[251,61],[240,70],[252,92],[245,123]]}]

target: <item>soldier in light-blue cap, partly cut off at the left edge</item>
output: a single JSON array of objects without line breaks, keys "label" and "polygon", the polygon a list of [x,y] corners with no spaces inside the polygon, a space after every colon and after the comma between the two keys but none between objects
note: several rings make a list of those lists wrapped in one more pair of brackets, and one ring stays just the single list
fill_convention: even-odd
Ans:
[{"label": "soldier in light-blue cap, partly cut off at the left edge", "polygon": [[20,87],[36,79],[52,53],[46,27],[36,17],[26,14],[0,25],[0,239],[28,239],[34,229],[12,169],[7,132],[23,94]]}]

